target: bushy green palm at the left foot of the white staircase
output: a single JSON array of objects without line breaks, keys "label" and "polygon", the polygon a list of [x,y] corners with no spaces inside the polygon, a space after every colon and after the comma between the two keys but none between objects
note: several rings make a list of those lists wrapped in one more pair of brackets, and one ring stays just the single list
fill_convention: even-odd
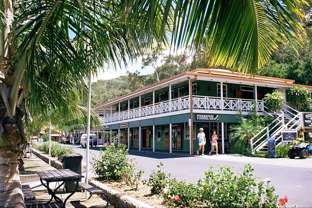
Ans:
[{"label": "bushy green palm at the left foot of the white staircase", "polygon": [[270,119],[269,117],[259,116],[255,111],[247,116],[238,111],[236,118],[238,124],[232,124],[229,127],[233,141],[231,152],[251,156],[250,139],[270,123]]}]

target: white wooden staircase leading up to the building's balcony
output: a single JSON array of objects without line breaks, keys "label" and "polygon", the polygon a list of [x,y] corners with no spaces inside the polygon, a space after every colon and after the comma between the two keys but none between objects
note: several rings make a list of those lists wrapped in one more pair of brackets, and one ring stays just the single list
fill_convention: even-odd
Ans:
[{"label": "white wooden staircase leading up to the building's balcony", "polygon": [[276,113],[277,117],[257,135],[250,139],[252,153],[254,150],[258,152],[267,152],[267,138],[275,138],[276,146],[282,145],[282,130],[295,129],[299,130],[302,126],[302,112],[284,104],[281,113]]}]

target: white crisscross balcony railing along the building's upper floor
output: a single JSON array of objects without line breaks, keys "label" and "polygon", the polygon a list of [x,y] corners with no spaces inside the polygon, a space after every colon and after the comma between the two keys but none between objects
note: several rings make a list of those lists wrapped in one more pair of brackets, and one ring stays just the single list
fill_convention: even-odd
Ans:
[{"label": "white crisscross balcony railing along the building's upper floor", "polygon": [[[223,98],[220,97],[206,97],[206,96],[193,96],[193,109],[203,110],[225,110],[225,111],[251,111],[253,109],[255,101],[248,99],[236,99],[236,98]],[[256,111],[264,112],[264,102],[256,102]],[[143,106],[119,113],[114,113],[104,117],[104,122],[123,121],[128,119],[134,119],[144,116],[152,116],[162,113],[168,113],[173,111],[182,111],[189,109],[189,96],[179,97],[176,99],[148,106]]]}]

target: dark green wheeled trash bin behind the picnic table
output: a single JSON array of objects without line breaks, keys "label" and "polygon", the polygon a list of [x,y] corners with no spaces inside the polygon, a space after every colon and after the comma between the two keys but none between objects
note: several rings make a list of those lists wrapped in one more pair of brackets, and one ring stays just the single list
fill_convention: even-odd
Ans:
[{"label": "dark green wheeled trash bin behind the picnic table", "polygon": [[[60,159],[63,169],[70,169],[71,171],[74,171],[75,173],[81,175],[81,160],[82,160],[81,154],[66,154],[62,155]],[[81,178],[79,181],[81,182]],[[74,191],[75,188],[76,185],[74,184],[73,181],[65,181],[63,191],[64,193],[68,193]],[[78,187],[77,191],[80,191],[80,187]]]}]

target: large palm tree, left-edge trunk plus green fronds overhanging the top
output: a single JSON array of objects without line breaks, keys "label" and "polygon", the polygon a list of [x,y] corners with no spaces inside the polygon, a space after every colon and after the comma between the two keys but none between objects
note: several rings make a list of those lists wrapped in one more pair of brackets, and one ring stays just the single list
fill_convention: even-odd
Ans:
[{"label": "large palm tree, left-edge trunk plus green fronds overhanging the top", "polygon": [[25,119],[79,121],[90,72],[166,48],[170,34],[173,45],[194,40],[199,49],[206,29],[208,66],[255,72],[276,49],[272,39],[301,41],[297,4],[305,2],[0,1],[0,206],[25,206],[17,169]]}]

